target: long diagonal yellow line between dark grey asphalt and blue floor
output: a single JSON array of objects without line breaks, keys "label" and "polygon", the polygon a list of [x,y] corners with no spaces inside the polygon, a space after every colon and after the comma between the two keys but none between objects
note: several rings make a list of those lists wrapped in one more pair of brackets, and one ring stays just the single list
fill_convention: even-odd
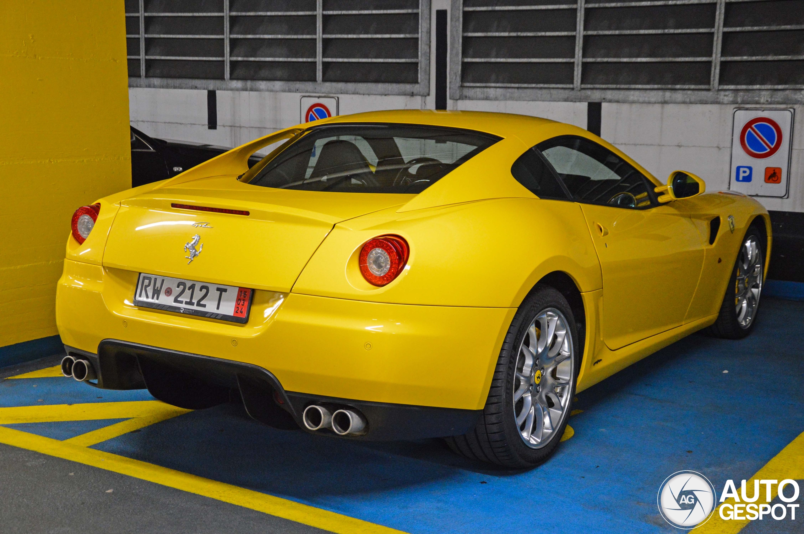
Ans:
[{"label": "long diagonal yellow line between dark grey asphalt and blue floor", "polygon": [[259,491],[247,490],[243,487],[232,486],[232,484],[204,479],[166,467],[125,458],[125,456],[113,455],[102,450],[89,449],[84,446],[60,442],[56,439],[44,438],[2,426],[0,426],[0,443],[34,450],[43,455],[72,460],[72,462],[84,463],[92,467],[100,467],[100,469],[105,469],[106,471],[113,471],[158,483],[162,486],[204,495],[211,499],[236,504],[257,512],[264,512],[286,520],[307,524],[311,527],[338,532],[339,534],[392,534],[393,532],[401,532],[379,524],[343,516],[336,512],[329,512],[306,504],[296,503],[292,500],[266,495]]}]

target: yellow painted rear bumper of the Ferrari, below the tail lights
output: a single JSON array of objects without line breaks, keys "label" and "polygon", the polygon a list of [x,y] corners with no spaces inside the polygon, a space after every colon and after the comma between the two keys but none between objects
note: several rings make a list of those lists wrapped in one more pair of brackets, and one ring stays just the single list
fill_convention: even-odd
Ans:
[{"label": "yellow painted rear bumper of the Ferrari, below the tail lights", "polygon": [[256,291],[241,325],[137,308],[136,278],[66,260],[56,297],[64,344],[97,354],[101,341],[121,340],[242,362],[285,391],[353,402],[481,410],[515,313]]}]

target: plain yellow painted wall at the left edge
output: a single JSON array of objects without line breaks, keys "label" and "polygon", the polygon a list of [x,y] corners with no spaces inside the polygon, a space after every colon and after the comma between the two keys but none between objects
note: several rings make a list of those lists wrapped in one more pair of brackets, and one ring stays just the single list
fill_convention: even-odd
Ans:
[{"label": "plain yellow painted wall at the left edge", "polygon": [[122,0],[0,2],[0,347],[54,336],[72,212],[131,185]]}]

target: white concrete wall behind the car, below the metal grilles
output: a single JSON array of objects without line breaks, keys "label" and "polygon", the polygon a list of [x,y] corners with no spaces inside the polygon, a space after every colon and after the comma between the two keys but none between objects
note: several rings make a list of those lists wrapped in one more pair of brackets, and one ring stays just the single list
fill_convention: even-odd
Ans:
[{"label": "white concrete wall behind the car, below the metal grilles", "polygon": [[[339,95],[338,112],[435,108],[435,20],[449,0],[433,0],[429,96]],[[130,88],[131,124],[153,137],[237,146],[299,121],[299,93],[217,92],[218,129],[207,129],[207,92]],[[586,128],[586,104],[449,100],[457,110],[523,113]],[[757,107],[757,106],[745,106]],[[783,106],[774,106],[783,107]],[[793,106],[789,198],[760,198],[769,210],[804,211],[804,106]],[[603,104],[601,137],[634,157],[659,179],[675,169],[695,173],[707,189],[728,188],[732,112],[724,104]]]}]

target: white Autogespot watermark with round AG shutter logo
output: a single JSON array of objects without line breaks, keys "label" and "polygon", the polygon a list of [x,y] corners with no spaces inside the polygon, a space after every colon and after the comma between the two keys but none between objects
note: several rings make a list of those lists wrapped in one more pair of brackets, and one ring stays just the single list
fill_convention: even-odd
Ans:
[{"label": "white Autogespot watermark with round AG shutter logo", "polygon": [[[765,503],[757,503],[761,498],[760,486],[765,486]],[[799,508],[798,482],[793,479],[772,480],[756,479],[753,481],[753,492],[749,497],[746,481],[740,483],[740,491],[732,479],[728,479],[720,494],[718,515],[721,520],[796,520],[796,509]],[[775,491],[774,491],[775,490]],[[774,495],[778,495],[782,503],[771,504]],[[706,523],[718,502],[715,487],[704,475],[696,471],[677,471],[668,476],[658,488],[658,511],[667,523],[675,528],[690,530]],[[724,503],[726,499],[734,499],[733,503]]]}]

